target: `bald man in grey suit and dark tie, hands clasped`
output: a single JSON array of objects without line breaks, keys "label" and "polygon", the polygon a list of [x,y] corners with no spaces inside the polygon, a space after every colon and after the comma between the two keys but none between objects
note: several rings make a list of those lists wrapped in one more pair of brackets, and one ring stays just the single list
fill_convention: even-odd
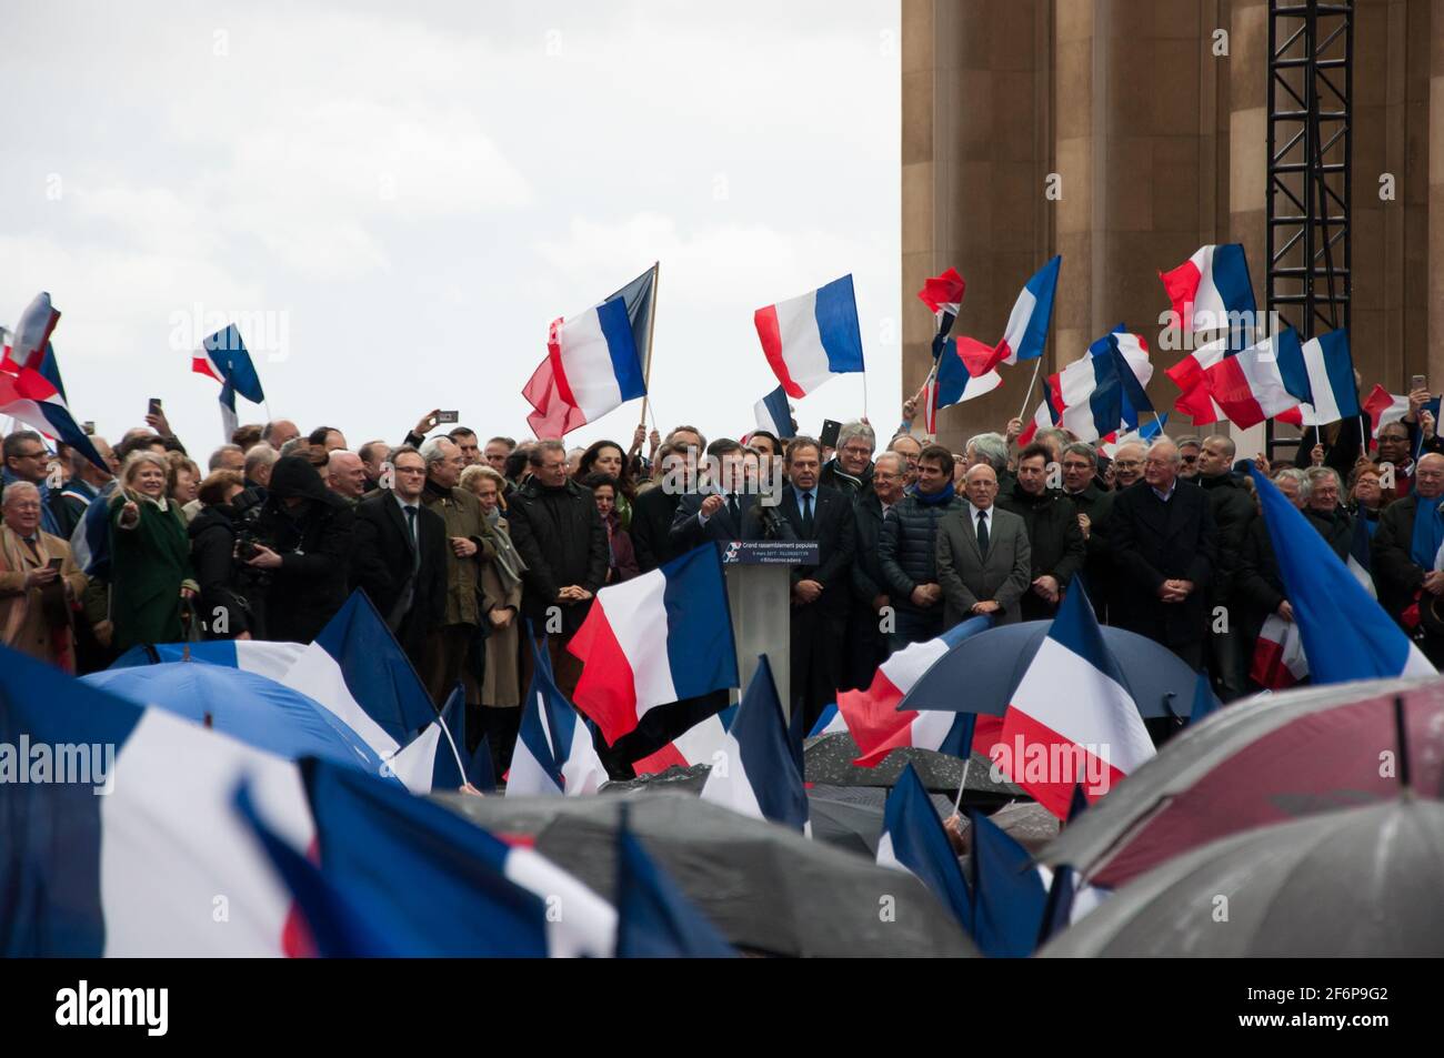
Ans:
[{"label": "bald man in grey suit and dark tie, hands clasped", "polygon": [[963,479],[967,505],[937,524],[937,582],[943,586],[943,626],[979,613],[999,625],[1022,619],[1019,600],[1032,579],[1028,527],[993,505],[998,473],[978,463]]}]

